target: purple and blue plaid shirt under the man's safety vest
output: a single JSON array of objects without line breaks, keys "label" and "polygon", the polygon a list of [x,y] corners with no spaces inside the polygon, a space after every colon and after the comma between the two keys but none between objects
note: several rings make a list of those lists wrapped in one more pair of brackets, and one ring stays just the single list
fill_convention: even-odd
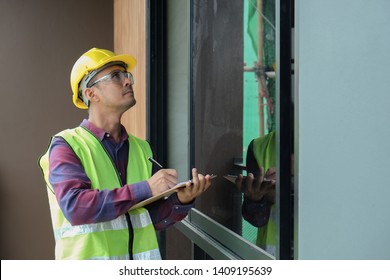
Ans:
[{"label": "purple and blue plaid shirt under the man's safety vest", "polygon": [[[113,190],[95,190],[84,172],[79,158],[62,138],[55,138],[50,147],[49,181],[57,201],[72,225],[98,223],[125,214],[134,204],[151,197],[147,181],[126,184],[129,141],[122,126],[121,139],[116,143],[104,130],[88,120],[80,124],[91,131],[109,152],[121,176],[122,187]],[[156,170],[153,170],[153,173]],[[147,206],[156,230],[182,220],[194,204],[183,205],[176,194]]]}]

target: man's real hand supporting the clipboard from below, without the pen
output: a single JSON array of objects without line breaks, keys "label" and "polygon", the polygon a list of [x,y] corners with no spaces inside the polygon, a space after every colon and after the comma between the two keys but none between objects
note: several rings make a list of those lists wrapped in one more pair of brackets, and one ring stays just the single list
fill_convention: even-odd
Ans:
[{"label": "man's real hand supporting the clipboard from below, without the pen", "polygon": [[192,169],[192,182],[188,182],[183,188],[178,189],[177,197],[183,204],[192,202],[196,197],[204,193],[211,185],[210,175],[198,174],[196,168]]}]

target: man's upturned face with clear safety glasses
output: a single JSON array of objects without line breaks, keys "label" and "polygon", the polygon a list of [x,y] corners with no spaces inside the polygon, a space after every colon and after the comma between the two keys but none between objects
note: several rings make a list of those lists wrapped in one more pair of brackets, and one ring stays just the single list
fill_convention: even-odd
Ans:
[{"label": "man's upturned face with clear safety glasses", "polygon": [[[125,112],[136,104],[132,79],[124,74],[126,70],[119,66],[110,66],[93,78],[91,89],[95,99],[91,100],[91,106]],[[99,82],[94,84],[94,82]]]}]

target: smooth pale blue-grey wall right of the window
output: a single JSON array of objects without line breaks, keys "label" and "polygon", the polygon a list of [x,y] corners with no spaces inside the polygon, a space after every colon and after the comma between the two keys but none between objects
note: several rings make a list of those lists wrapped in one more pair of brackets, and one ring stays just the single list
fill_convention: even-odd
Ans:
[{"label": "smooth pale blue-grey wall right of the window", "polygon": [[390,2],[295,2],[296,257],[389,259]]}]

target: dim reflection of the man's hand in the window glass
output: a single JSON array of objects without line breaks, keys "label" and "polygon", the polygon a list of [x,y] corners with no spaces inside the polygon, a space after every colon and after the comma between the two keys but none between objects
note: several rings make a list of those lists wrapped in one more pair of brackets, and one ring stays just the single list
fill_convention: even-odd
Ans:
[{"label": "dim reflection of the man's hand in the window glass", "polygon": [[263,167],[260,167],[259,171],[258,178],[254,178],[252,173],[248,173],[245,179],[241,174],[238,175],[236,187],[252,201],[260,201],[265,197],[275,203],[276,168],[271,167],[266,174]]}]

